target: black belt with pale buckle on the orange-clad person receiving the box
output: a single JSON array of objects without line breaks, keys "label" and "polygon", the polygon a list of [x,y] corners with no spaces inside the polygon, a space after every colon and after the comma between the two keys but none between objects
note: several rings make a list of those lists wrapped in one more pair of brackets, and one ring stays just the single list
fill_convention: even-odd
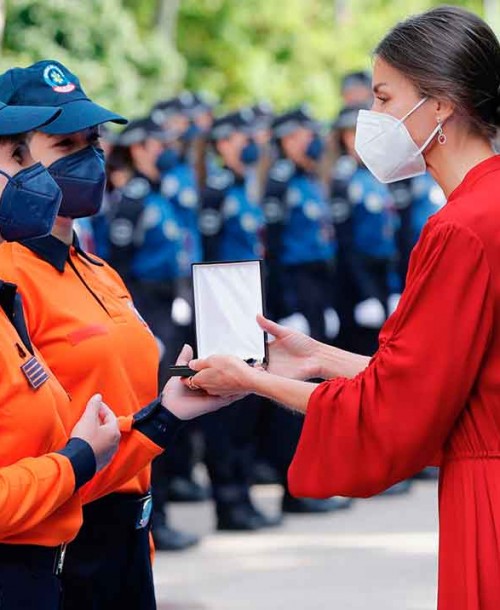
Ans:
[{"label": "black belt with pale buckle on the orange-clad person receiving the box", "polygon": [[106,524],[110,528],[133,527],[143,529],[151,517],[151,494],[113,493],[83,507],[84,527],[91,523]]}]

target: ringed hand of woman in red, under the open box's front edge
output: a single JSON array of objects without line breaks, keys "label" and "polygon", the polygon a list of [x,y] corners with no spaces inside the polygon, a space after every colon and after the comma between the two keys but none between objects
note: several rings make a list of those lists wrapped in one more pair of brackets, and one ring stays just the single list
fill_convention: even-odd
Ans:
[{"label": "ringed hand of woman in red, under the open box's front edge", "polygon": [[211,396],[248,394],[254,387],[255,375],[266,374],[262,369],[251,367],[234,356],[210,356],[203,360],[192,360],[189,366],[198,371],[192,377],[191,385]]}]

